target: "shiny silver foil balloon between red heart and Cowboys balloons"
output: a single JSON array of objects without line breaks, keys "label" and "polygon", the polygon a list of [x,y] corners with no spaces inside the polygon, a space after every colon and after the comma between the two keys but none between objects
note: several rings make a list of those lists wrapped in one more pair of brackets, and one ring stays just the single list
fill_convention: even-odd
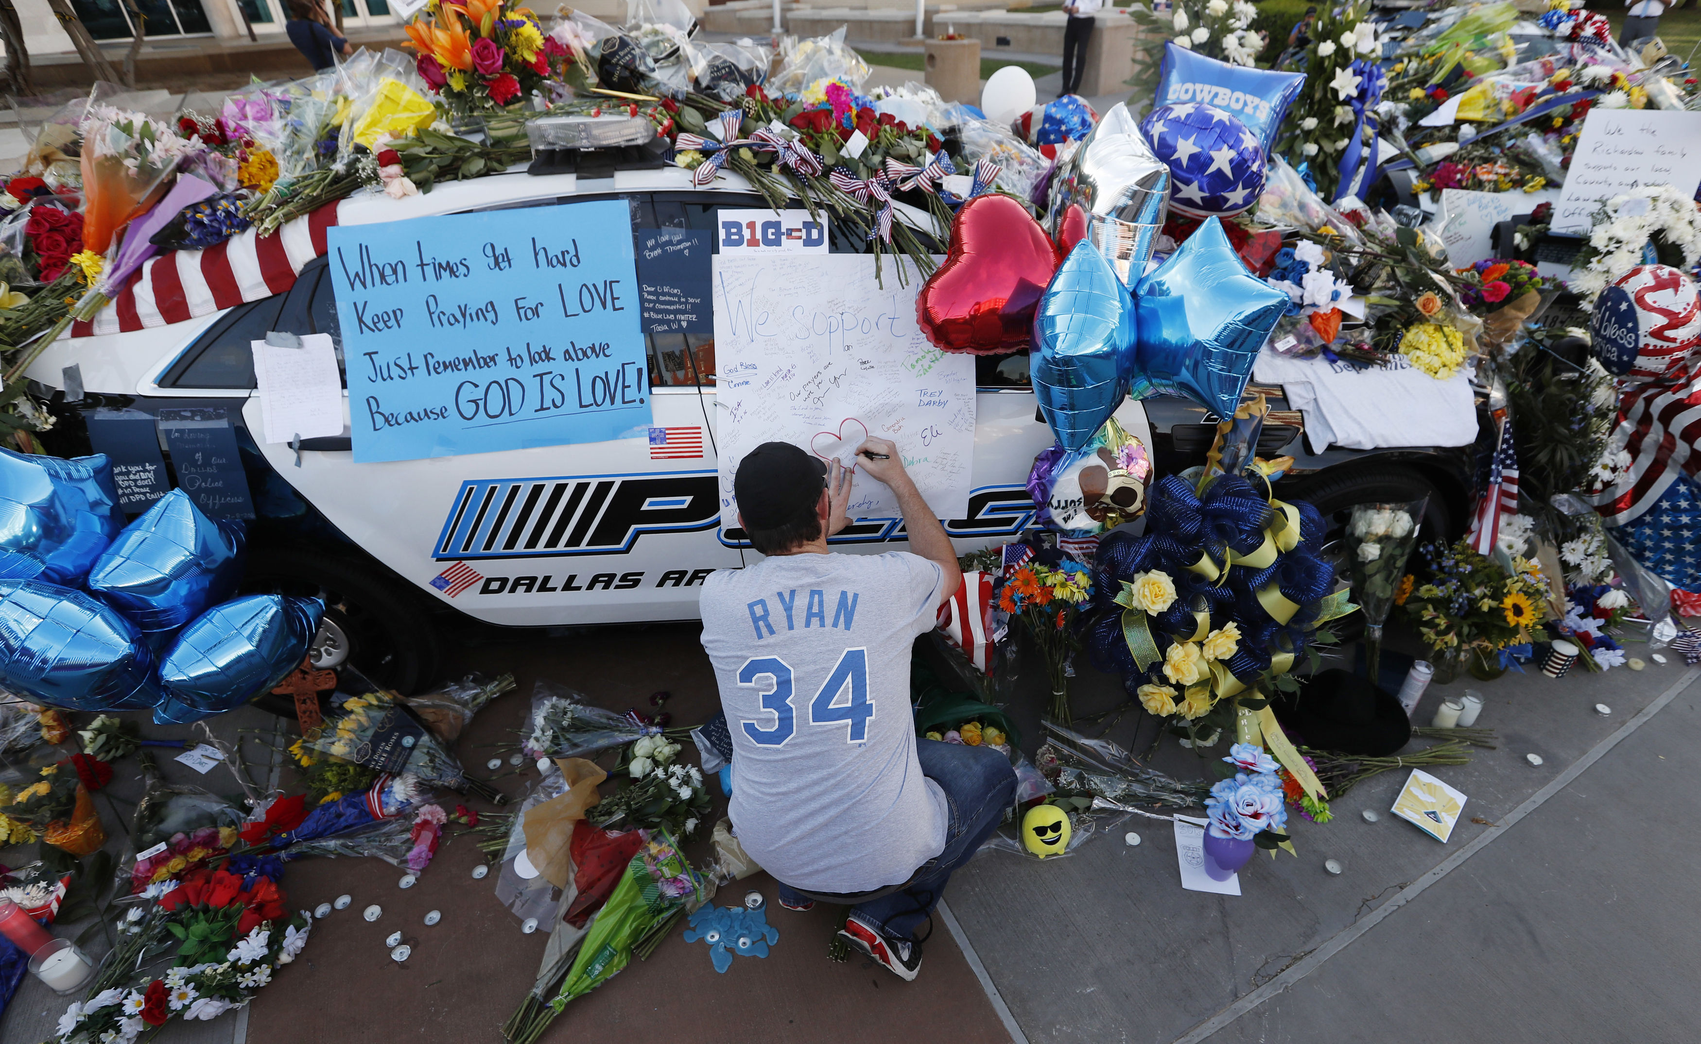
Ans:
[{"label": "shiny silver foil balloon between red heart and Cowboys balloons", "polygon": [[1087,216],[1087,240],[1124,284],[1145,274],[1169,216],[1169,167],[1118,102],[1051,179],[1046,228],[1056,236],[1070,204]]}]

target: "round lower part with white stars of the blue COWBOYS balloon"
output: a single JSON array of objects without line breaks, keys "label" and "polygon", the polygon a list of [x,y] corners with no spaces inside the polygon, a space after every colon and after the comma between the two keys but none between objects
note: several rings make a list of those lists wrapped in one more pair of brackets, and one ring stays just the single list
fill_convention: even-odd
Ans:
[{"label": "round lower part with white stars of the blue COWBOYS balloon", "polygon": [[1189,218],[1226,218],[1259,201],[1264,145],[1243,122],[1199,102],[1160,105],[1140,124],[1170,168],[1170,209]]}]

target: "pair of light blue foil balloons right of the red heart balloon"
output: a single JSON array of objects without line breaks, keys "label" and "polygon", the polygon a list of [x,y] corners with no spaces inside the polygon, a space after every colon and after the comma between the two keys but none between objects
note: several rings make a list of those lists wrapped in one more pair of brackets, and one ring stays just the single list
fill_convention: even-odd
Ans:
[{"label": "pair of light blue foil balloons right of the red heart balloon", "polygon": [[1247,270],[1216,218],[1131,294],[1082,241],[1034,315],[1034,398],[1068,451],[1092,439],[1123,394],[1184,394],[1233,417],[1286,306],[1288,294]]}]

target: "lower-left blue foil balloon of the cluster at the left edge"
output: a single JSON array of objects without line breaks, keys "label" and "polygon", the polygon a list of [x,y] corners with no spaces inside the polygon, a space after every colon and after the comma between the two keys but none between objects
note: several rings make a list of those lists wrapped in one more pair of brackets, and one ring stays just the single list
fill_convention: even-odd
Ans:
[{"label": "lower-left blue foil balloon of the cluster at the left edge", "polygon": [[136,627],[83,592],[41,580],[0,580],[0,682],[73,711],[160,702],[153,653]]}]

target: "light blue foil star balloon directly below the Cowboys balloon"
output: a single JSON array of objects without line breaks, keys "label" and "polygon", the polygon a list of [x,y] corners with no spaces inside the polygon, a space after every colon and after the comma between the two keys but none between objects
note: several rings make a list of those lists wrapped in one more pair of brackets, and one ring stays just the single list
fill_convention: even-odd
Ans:
[{"label": "light blue foil star balloon directly below the Cowboys balloon", "polygon": [[1140,342],[1129,394],[1184,394],[1218,417],[1233,417],[1286,308],[1288,294],[1249,272],[1223,223],[1208,218],[1135,286]]}]

